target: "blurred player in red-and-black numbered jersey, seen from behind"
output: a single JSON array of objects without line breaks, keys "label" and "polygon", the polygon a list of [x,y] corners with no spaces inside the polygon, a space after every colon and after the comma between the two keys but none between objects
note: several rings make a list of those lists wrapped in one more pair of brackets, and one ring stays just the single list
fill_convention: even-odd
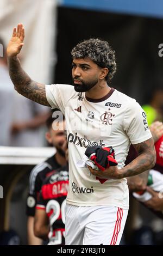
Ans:
[{"label": "blurred player in red-and-black numbered jersey, seen from behind", "polygon": [[34,234],[41,239],[48,239],[48,245],[65,245],[68,150],[65,151],[66,166],[47,175],[36,204]]}]

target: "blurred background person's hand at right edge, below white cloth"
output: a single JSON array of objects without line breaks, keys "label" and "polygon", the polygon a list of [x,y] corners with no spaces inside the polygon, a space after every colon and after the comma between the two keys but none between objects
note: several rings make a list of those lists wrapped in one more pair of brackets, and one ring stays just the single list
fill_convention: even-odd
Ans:
[{"label": "blurred background person's hand at right edge, below white cloth", "polygon": [[152,194],[152,198],[146,201],[144,204],[148,208],[152,208],[155,211],[163,211],[163,197],[159,192],[155,192],[151,187],[147,187],[146,190]]}]

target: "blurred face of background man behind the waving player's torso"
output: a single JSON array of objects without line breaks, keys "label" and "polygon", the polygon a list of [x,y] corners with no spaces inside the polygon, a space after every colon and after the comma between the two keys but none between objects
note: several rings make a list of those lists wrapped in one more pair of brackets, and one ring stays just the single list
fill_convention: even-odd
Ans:
[{"label": "blurred face of background man behind the waving player's torso", "polygon": [[59,123],[58,121],[54,121],[51,128],[46,133],[46,139],[64,156],[65,152],[62,150],[62,146],[66,141],[65,121],[60,121]]}]

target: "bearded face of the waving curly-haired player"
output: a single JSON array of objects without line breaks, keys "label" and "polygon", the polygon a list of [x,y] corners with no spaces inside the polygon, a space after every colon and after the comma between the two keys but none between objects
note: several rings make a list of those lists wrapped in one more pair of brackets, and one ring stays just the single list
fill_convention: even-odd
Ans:
[{"label": "bearded face of the waving curly-haired player", "polygon": [[73,59],[72,79],[76,92],[87,92],[96,86],[101,69],[89,58]]}]

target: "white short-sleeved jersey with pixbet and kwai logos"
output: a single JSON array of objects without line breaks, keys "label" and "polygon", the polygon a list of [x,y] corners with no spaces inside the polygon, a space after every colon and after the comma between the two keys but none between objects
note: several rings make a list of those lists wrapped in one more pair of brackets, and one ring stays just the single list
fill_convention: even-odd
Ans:
[{"label": "white short-sleeved jersey with pixbet and kwai logos", "polygon": [[101,184],[89,169],[79,168],[76,163],[90,146],[111,146],[118,168],[122,168],[130,143],[152,137],[139,103],[113,88],[102,99],[93,100],[66,84],[46,85],[46,96],[52,108],[59,108],[66,120],[70,175],[67,204],[128,209],[126,178],[108,179]]}]

